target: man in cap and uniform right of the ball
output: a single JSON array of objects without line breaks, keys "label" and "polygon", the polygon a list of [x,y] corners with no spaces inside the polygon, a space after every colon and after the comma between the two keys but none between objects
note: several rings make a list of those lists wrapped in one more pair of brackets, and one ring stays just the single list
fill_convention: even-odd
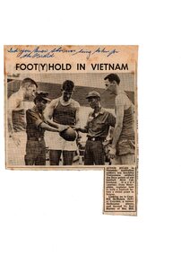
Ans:
[{"label": "man in cap and uniform right of the ball", "polygon": [[85,165],[104,165],[105,151],[103,142],[108,137],[110,127],[115,127],[115,117],[100,105],[100,94],[96,91],[90,92],[86,99],[90,103],[93,111],[90,112],[85,128],[77,130],[87,133],[85,145],[84,164]]}]

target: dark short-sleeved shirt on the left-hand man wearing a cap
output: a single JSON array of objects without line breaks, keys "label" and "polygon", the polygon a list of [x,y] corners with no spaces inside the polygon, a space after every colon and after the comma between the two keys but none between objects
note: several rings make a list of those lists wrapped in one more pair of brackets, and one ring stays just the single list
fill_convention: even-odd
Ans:
[{"label": "dark short-sleeved shirt on the left-hand man wearing a cap", "polygon": [[26,111],[26,121],[26,132],[28,137],[44,137],[45,129],[41,128],[40,124],[45,122],[45,119],[36,106]]}]

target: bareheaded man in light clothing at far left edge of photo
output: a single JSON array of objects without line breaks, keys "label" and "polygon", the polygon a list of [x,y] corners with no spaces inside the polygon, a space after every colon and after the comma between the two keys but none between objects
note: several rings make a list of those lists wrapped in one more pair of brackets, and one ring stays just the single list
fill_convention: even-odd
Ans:
[{"label": "bareheaded man in light clothing at far left edge of photo", "polygon": [[[8,165],[24,165],[26,146],[26,117],[25,112],[35,97],[38,85],[30,78],[22,80],[18,92],[13,93],[7,100],[7,150]],[[29,101],[29,102],[27,102]]]}]

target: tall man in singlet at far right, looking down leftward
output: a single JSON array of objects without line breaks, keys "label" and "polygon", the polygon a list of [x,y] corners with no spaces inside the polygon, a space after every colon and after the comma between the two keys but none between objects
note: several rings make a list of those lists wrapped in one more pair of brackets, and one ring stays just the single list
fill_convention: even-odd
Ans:
[{"label": "tall man in singlet at far right, looking down leftward", "polygon": [[106,90],[116,95],[116,126],[109,147],[112,164],[135,163],[134,104],[121,87],[118,75],[109,74],[104,80]]}]

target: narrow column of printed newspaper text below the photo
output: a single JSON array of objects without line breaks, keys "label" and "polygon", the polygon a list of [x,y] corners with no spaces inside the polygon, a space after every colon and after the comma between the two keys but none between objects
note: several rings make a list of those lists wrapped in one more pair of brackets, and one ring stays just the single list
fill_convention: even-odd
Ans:
[{"label": "narrow column of printed newspaper text below the photo", "polygon": [[108,166],[104,177],[104,212],[136,212],[136,169],[134,166]]}]

